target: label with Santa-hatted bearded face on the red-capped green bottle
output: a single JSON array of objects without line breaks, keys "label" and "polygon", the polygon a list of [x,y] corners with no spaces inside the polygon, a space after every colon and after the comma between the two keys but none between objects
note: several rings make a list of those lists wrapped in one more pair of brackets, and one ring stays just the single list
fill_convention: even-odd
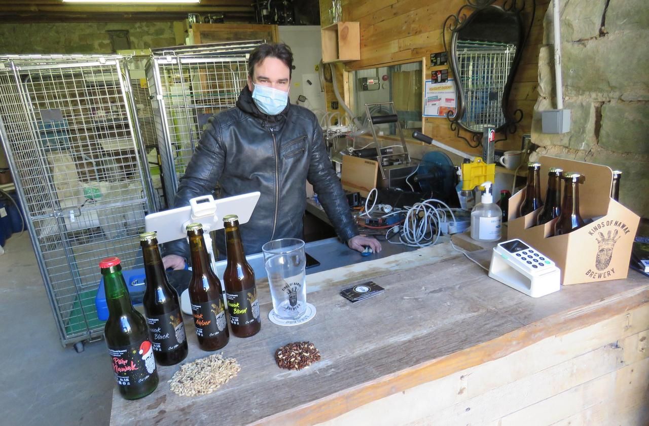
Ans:
[{"label": "label with Santa-hatted bearded face on the red-capped green bottle", "polygon": [[108,346],[117,385],[141,385],[156,372],[153,345],[149,340],[129,346]]}]

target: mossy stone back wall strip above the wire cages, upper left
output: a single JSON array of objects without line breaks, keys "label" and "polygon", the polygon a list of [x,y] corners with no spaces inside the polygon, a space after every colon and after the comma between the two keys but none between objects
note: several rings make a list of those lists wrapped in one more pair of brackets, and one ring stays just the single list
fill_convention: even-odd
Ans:
[{"label": "mossy stone back wall strip above the wire cages, upper left", "polygon": [[0,54],[112,53],[108,30],[128,30],[131,49],[176,44],[173,22],[0,24]]}]

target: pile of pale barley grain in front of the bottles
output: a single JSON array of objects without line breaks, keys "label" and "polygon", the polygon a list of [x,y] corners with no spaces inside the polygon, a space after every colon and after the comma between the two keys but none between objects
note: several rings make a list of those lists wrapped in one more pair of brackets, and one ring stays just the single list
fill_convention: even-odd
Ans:
[{"label": "pile of pale barley grain in front of the bottles", "polygon": [[236,359],[212,354],[181,366],[169,383],[171,390],[180,396],[207,395],[236,376],[239,370]]}]

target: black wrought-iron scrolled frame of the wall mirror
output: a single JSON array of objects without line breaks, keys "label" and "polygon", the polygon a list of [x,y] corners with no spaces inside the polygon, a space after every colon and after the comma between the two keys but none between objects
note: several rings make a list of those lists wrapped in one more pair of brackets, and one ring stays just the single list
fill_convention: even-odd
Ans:
[{"label": "black wrought-iron scrolled frame of the wall mirror", "polygon": [[[519,38],[519,46],[517,47],[516,54],[514,56],[513,63],[511,65],[511,69],[509,70],[509,75],[507,77],[507,82],[504,87],[502,99],[500,102],[500,109],[502,110],[502,114],[505,117],[505,123],[501,124],[496,128],[496,132],[502,132],[504,134],[504,137],[502,139],[496,140],[498,141],[504,141],[507,139],[508,134],[513,134],[516,132],[517,129],[517,124],[520,123],[520,121],[523,118],[523,112],[522,110],[517,109],[514,112],[509,112],[509,93],[511,91],[511,86],[513,85],[513,80],[516,75],[516,71],[519,67],[520,63],[520,58],[522,56],[522,52],[524,50],[524,47],[527,43],[527,40],[530,36],[530,30],[532,29],[532,24],[534,21],[534,13],[536,10],[536,1],[531,0],[531,1],[518,1],[518,0],[504,0],[504,1],[498,1],[498,0],[466,0],[467,3],[465,5],[462,5],[458,12],[453,15],[449,15],[445,21],[444,25],[442,27],[442,41],[444,43],[444,50],[448,54],[448,58],[450,60],[450,66],[451,66],[451,71],[453,73],[453,78],[455,81],[455,87],[456,87],[456,112],[453,114],[452,112],[447,113],[447,119],[450,122],[450,129],[456,133],[456,136],[464,139],[470,147],[472,148],[477,148],[482,145],[482,132],[476,132],[476,130],[473,130],[471,128],[468,128],[462,121],[462,117],[464,115],[464,108],[463,108],[463,101],[464,101],[464,88],[458,78],[458,67],[457,67],[457,43],[458,43],[458,34],[459,31],[465,28],[469,23],[471,23],[472,19],[476,16],[476,12],[479,12],[480,10],[485,10],[487,8],[496,8],[500,13],[504,14],[513,14],[515,16],[516,21],[519,23],[520,26],[520,38]],[[502,6],[498,6],[495,3],[502,3]],[[519,4],[520,3],[520,4]],[[528,5],[532,5],[532,10],[531,10],[531,16],[530,16],[530,21],[527,25],[525,26],[525,20],[523,16],[523,12],[529,8]],[[470,14],[467,14],[467,12],[470,12]],[[449,46],[447,45],[447,30],[451,32],[452,38],[451,38],[451,45],[450,49]],[[460,136],[459,130],[463,129],[469,133],[471,133],[471,141],[467,139],[466,137]]]}]

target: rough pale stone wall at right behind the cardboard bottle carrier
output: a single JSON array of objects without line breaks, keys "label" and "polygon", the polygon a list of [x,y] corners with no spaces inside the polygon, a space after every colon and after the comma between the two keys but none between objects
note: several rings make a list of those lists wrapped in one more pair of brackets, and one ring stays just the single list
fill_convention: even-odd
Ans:
[{"label": "rough pale stone wall at right behind the cardboard bottle carrier", "polygon": [[572,123],[566,134],[541,133],[541,111],[556,108],[550,5],[532,123],[536,154],[620,169],[620,202],[649,217],[649,2],[562,3],[563,104]]}]

